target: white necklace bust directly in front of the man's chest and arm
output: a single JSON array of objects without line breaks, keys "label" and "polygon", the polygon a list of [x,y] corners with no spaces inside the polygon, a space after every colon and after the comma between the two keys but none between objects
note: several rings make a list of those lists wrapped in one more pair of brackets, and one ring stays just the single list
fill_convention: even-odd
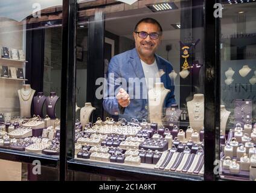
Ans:
[{"label": "white necklace bust directly in front of the man's chest and arm", "polygon": [[164,83],[155,83],[149,90],[149,118],[151,122],[162,124],[164,101],[171,90],[165,89]]}]

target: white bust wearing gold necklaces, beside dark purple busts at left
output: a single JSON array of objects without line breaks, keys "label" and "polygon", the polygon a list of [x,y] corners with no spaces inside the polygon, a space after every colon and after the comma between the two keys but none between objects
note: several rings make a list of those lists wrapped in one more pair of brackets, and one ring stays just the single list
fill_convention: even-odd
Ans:
[{"label": "white bust wearing gold necklaces, beside dark purple busts at left", "polygon": [[22,89],[18,90],[22,118],[31,117],[31,103],[35,92],[36,90],[31,89],[30,84],[24,84]]}]

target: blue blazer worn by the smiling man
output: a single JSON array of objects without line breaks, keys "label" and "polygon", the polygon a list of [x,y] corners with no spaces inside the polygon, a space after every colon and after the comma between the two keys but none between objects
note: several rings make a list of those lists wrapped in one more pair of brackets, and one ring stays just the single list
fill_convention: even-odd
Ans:
[{"label": "blue blazer worn by the smiling man", "polygon": [[[162,69],[165,72],[165,74],[161,77],[161,82],[164,83],[166,89],[171,90],[171,92],[168,93],[164,104],[164,107],[170,107],[171,104],[176,103],[174,98],[173,80],[171,80],[169,77],[173,67],[167,60],[159,57],[156,54],[155,58],[158,65],[158,70]],[[121,84],[117,78],[124,78],[124,80],[127,81],[127,85]],[[130,92],[134,88],[136,89],[138,84],[129,84],[129,78],[139,78],[139,80],[142,80],[139,85],[141,95],[140,99],[135,98],[136,92]],[[147,96],[147,84],[144,78],[145,75],[142,68],[141,59],[139,58],[136,48],[112,57],[107,71],[107,84],[105,84],[104,89],[104,110],[106,110],[111,115],[118,115],[119,118],[125,118],[127,121],[130,121],[132,118],[138,119],[139,121],[142,121],[142,119],[148,120],[148,100],[147,98],[145,99],[145,97],[142,98],[143,94],[144,96],[145,94]],[[120,83],[121,86],[114,85],[115,81]],[[115,95],[113,92],[109,91],[110,87],[115,89]],[[133,98],[130,99],[130,105],[125,108],[124,113],[120,111],[121,108],[118,106],[118,101],[115,98],[116,94],[119,92],[120,87],[123,87],[126,92],[129,93],[130,98]]]}]

